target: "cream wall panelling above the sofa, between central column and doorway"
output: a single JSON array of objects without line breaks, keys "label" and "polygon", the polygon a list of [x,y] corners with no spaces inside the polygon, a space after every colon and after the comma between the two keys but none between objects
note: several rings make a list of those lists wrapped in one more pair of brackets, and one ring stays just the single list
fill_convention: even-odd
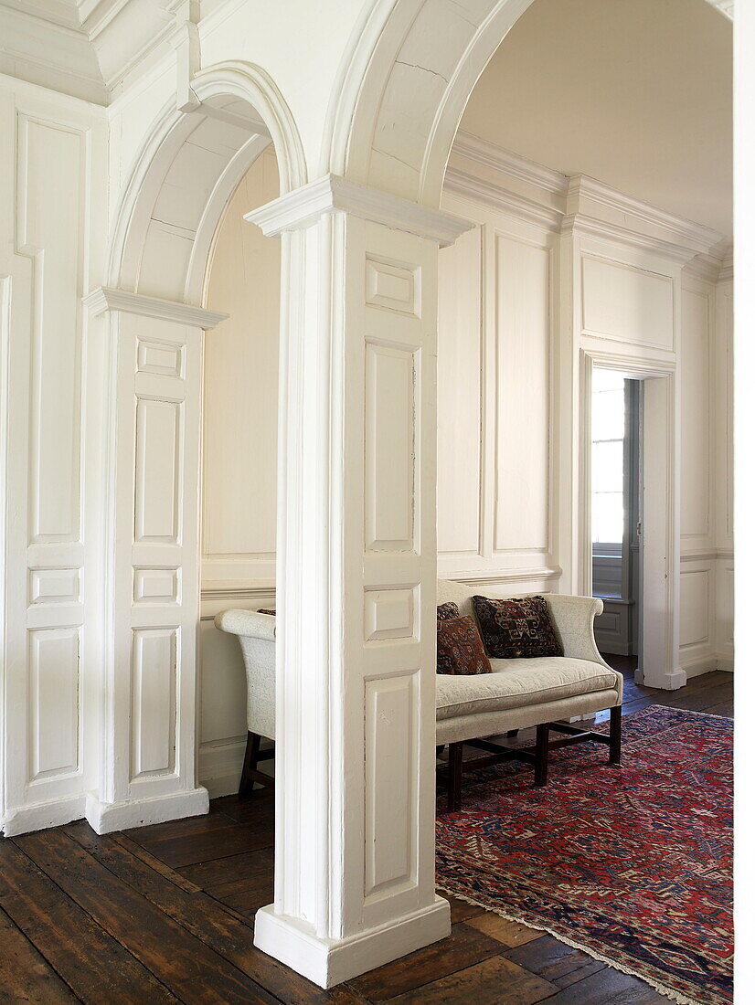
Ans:
[{"label": "cream wall panelling above the sofa, between central column and doorway", "polygon": [[475,227],[439,255],[438,568],[556,589],[553,233],[507,213],[505,193],[443,205]]}]

